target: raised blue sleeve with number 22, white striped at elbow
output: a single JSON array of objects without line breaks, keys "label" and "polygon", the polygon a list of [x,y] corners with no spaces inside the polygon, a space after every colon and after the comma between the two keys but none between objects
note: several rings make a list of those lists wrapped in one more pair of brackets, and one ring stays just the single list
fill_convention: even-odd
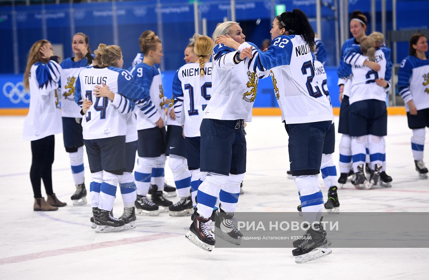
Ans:
[{"label": "raised blue sleeve with number 22, white striped at elbow", "polygon": [[[279,39],[279,40],[277,40]],[[272,41],[272,45],[264,52],[255,49],[248,42],[240,45],[239,51],[244,48],[252,48],[253,57],[246,58],[244,63],[251,72],[261,74],[276,66],[289,65],[292,56],[293,44],[286,36],[278,36]]]}]

